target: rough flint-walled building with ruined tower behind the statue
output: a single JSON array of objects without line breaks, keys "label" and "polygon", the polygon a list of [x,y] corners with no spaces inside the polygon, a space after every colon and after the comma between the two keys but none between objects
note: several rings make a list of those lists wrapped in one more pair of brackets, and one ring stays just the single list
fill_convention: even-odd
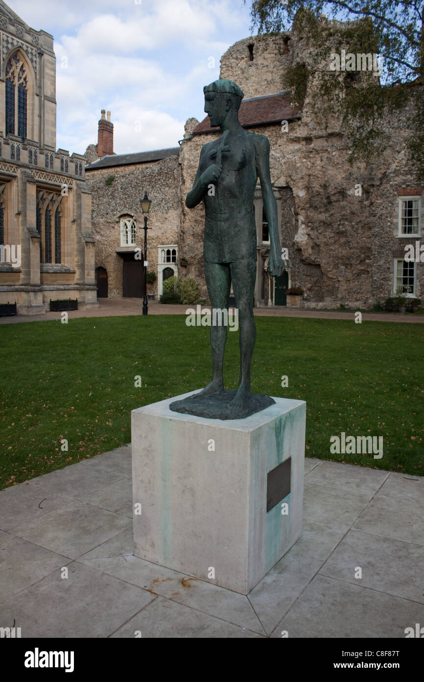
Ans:
[{"label": "rough flint-walled building with ruined tower behind the statue", "polygon": [[[220,77],[234,80],[244,91],[240,122],[249,132],[266,135],[271,144],[286,271],[276,280],[268,273],[270,239],[258,184],[255,306],[286,305],[291,286],[304,289],[307,308],[341,303],[368,307],[396,292],[420,297],[423,265],[406,261],[405,247],[421,239],[423,187],[416,186],[410,168],[402,112],[387,119],[391,141],[378,161],[350,166],[349,140],[341,125],[333,121],[325,128],[314,114],[313,85],[302,110],[291,106],[290,93],[282,91],[282,73],[301,62],[303,50],[293,33],[261,35],[235,43],[221,59]],[[113,124],[104,114],[99,143],[86,152],[99,296],[143,295],[143,261],[135,261],[134,250],[143,247],[144,192],[152,200],[148,271],[157,276],[148,293],[161,295],[163,281],[175,274],[196,278],[206,296],[203,204],[189,210],[184,200],[201,147],[218,132],[210,128],[208,117],[200,123],[189,119],[178,147],[116,155]]]}]

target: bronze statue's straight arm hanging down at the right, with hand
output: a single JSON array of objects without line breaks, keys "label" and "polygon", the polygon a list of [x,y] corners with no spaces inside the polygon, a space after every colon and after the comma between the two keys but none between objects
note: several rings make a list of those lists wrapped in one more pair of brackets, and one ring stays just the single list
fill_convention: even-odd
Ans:
[{"label": "bronze statue's straight arm hanging down at the right, with hand", "polygon": [[280,235],[278,233],[277,202],[272,191],[270,173],[270,140],[265,135],[255,135],[256,167],[261,181],[263,208],[270,231],[270,274],[280,277],[284,271],[281,258]]}]

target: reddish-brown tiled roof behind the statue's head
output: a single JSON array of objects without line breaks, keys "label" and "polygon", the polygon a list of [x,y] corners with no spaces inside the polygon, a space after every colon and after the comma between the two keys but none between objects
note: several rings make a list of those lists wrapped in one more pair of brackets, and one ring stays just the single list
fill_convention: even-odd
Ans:
[{"label": "reddish-brown tiled roof behind the statue's head", "polygon": [[[278,93],[277,95],[265,95],[264,97],[242,100],[238,117],[243,128],[250,128],[253,125],[299,119],[301,112],[297,106],[290,105],[290,93]],[[193,135],[216,130],[219,128],[211,128],[210,119],[207,116],[193,130]]]}]

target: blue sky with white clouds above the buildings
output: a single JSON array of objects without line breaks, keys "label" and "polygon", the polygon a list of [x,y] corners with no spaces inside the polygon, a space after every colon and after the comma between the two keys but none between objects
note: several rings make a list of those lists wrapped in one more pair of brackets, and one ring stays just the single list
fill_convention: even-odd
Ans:
[{"label": "blue sky with white clouds above the buildings", "polygon": [[112,111],[117,153],[176,146],[250,23],[242,0],[14,0],[13,10],[54,35],[57,146],[79,153],[97,142],[101,108]]}]

